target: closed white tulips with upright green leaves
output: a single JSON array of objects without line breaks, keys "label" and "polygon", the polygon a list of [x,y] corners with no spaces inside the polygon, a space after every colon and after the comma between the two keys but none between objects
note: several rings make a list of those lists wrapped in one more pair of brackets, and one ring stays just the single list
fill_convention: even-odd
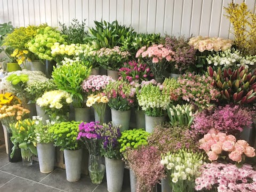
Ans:
[{"label": "closed white tulips with upright green leaves", "polygon": [[170,118],[170,124],[172,126],[188,126],[193,123],[194,107],[188,103],[183,105],[169,104],[167,106],[167,113]]}]

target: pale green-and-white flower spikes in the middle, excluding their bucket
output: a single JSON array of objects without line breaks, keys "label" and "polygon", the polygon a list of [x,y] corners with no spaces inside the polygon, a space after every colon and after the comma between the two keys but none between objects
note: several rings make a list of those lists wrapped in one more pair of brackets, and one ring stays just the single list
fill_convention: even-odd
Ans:
[{"label": "pale green-and-white flower spikes in the middle, excluding their bucket", "polygon": [[171,102],[163,85],[155,79],[141,83],[141,89],[137,90],[137,100],[145,114],[153,117],[164,116],[166,107]]}]

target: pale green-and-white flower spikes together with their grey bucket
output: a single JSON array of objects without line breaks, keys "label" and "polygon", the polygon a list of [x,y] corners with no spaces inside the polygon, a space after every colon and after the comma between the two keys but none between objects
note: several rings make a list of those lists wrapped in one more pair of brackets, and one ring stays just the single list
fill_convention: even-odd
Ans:
[{"label": "pale green-and-white flower spikes together with their grey bucket", "polygon": [[146,131],[151,133],[154,126],[165,122],[166,107],[171,102],[169,94],[162,84],[152,79],[142,82],[141,90],[137,91],[137,100],[145,113]]}]

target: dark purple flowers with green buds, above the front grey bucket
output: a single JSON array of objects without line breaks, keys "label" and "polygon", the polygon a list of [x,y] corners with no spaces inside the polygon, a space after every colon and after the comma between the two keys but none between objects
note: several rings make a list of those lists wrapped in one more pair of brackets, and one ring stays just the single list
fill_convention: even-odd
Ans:
[{"label": "dark purple flowers with green buds, above the front grey bucket", "polygon": [[103,123],[102,128],[98,132],[101,139],[102,154],[109,159],[121,159],[118,139],[121,138],[120,126],[114,126],[112,123]]}]

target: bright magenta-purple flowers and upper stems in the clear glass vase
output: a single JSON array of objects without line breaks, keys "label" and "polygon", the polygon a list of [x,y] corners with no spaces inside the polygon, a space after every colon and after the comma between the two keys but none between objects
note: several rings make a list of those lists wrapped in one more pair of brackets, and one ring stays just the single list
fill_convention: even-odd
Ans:
[{"label": "bright magenta-purple flowers and upper stems in the clear glass vase", "polygon": [[84,143],[90,154],[98,153],[98,140],[101,139],[101,135],[99,133],[102,129],[102,125],[99,123],[100,122],[82,122],[79,124],[79,132],[76,139],[81,140]]}]

